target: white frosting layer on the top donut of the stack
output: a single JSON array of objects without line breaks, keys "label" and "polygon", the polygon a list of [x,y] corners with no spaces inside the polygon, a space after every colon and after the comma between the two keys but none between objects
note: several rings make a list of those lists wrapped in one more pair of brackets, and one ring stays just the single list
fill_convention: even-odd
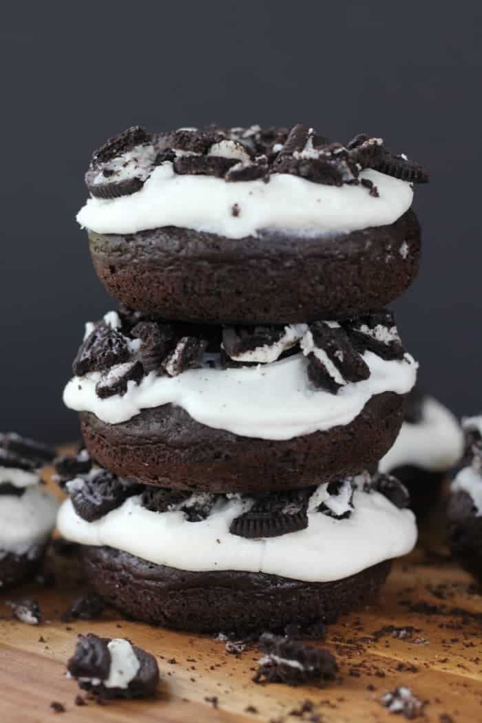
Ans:
[{"label": "white frosting layer on the top donut of the stack", "polygon": [[[152,171],[142,189],[114,199],[90,198],[79,211],[81,226],[98,234],[134,234],[178,226],[241,239],[272,228],[298,234],[345,234],[397,221],[413,200],[405,181],[361,171],[379,197],[359,186],[325,186],[291,174],[227,182],[212,176],[178,175],[170,162]],[[238,215],[233,215],[234,204]]]}]

